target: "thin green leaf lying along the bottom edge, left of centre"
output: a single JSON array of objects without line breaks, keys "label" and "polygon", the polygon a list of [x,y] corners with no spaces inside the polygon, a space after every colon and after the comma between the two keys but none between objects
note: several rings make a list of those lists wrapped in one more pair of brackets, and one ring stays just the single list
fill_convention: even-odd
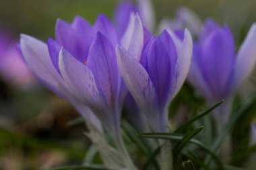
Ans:
[{"label": "thin green leaf lying along the bottom edge, left of centre", "polygon": [[41,170],[110,170],[104,168],[103,165],[67,165],[61,167],[51,167]]}]

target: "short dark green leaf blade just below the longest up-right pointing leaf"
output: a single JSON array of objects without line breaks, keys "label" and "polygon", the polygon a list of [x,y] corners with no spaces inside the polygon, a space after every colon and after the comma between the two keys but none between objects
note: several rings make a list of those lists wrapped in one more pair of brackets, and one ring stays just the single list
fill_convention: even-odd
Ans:
[{"label": "short dark green leaf blade just below the longest up-right pointing leaf", "polygon": [[175,144],[175,146],[173,147],[174,155],[179,155],[179,153],[181,152],[183,147],[189,142],[189,140],[191,140],[195,135],[199,134],[201,130],[203,130],[203,126],[185,134],[185,136],[183,136],[179,143]]}]

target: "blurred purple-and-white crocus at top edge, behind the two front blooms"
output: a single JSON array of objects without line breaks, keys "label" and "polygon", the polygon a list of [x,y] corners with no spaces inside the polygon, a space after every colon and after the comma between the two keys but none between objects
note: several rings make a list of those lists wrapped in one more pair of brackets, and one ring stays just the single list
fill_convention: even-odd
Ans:
[{"label": "blurred purple-and-white crocus at top edge, behind the two front blooms", "polygon": [[131,1],[121,1],[114,13],[119,37],[123,36],[129,24],[129,18],[135,13],[139,13],[143,26],[151,32],[154,30],[155,13],[150,0],[138,0],[137,4],[133,4]]}]

